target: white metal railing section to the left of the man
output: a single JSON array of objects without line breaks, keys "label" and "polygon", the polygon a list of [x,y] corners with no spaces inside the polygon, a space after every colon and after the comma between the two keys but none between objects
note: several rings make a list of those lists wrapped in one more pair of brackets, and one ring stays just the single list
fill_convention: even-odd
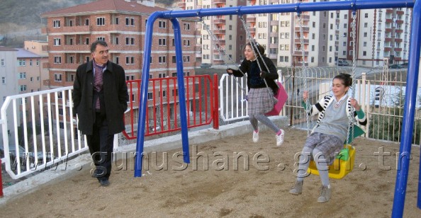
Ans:
[{"label": "white metal railing section to the left of the man", "polygon": [[1,107],[6,172],[17,179],[88,149],[72,117],[72,86],[7,96]]}]

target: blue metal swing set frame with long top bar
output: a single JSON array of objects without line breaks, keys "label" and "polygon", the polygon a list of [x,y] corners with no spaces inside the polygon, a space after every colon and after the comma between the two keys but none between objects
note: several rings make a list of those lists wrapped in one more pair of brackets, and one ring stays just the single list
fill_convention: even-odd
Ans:
[{"label": "blue metal swing set frame with long top bar", "polygon": [[[142,62],[142,84],[141,90],[142,95],[140,96],[140,110],[137,127],[137,146],[135,156],[135,177],[142,176],[142,155],[143,146],[145,142],[145,117],[147,108],[147,89],[149,81],[150,71],[150,59],[151,48],[152,48],[152,34],[153,24],[158,18],[169,19],[172,22],[174,29],[174,42],[175,42],[175,53],[176,53],[176,69],[177,69],[177,83],[179,87],[179,107],[180,111],[186,111],[186,98],[184,90],[184,74],[183,74],[183,60],[181,50],[181,28],[177,18],[202,18],[205,16],[227,16],[237,15],[243,16],[247,14],[257,13],[297,13],[300,17],[302,12],[305,11],[338,11],[338,10],[350,10],[357,13],[361,9],[375,9],[375,8],[413,8],[412,10],[412,24],[410,34],[410,52],[409,52],[409,65],[408,65],[408,76],[405,90],[405,105],[403,115],[403,128],[402,138],[400,141],[400,153],[399,163],[400,170],[397,172],[395,181],[395,195],[393,199],[393,211],[392,217],[402,217],[403,207],[405,205],[405,192],[408,183],[408,170],[410,162],[410,150],[411,150],[411,139],[413,130],[413,120],[415,117],[415,103],[417,100],[417,81],[418,81],[418,67],[420,66],[420,50],[421,50],[421,0],[352,0],[352,1],[322,1],[322,2],[309,2],[302,3],[297,2],[295,4],[271,4],[263,6],[237,6],[237,7],[226,7],[226,8],[201,8],[195,10],[184,10],[184,11],[156,11],[150,15],[146,24],[145,32],[145,47],[143,53]],[[355,20],[355,19],[354,19]],[[353,25],[353,31],[355,25]],[[302,28],[301,28],[302,31]],[[302,32],[301,32],[302,33]],[[354,36],[355,34],[353,34]],[[303,38],[303,34],[300,36]],[[355,51],[355,44],[353,43],[353,49]],[[301,52],[304,53],[304,47],[301,47]],[[354,52],[355,53],[355,52]],[[304,62],[304,59],[303,59]],[[353,58],[353,73],[355,75],[355,56]],[[305,68],[304,68],[305,69]],[[307,71],[304,70],[304,73]],[[353,78],[354,80],[354,78]],[[304,81],[305,84],[305,81]],[[354,92],[353,92],[354,93]],[[308,104],[308,103],[307,103]],[[186,113],[180,113],[181,119],[181,140],[183,147],[184,162],[189,164],[189,137],[186,122]],[[308,118],[307,118],[308,119]],[[349,125],[351,126],[351,125]],[[350,132],[350,131],[348,131]],[[352,153],[352,150],[349,151]],[[352,164],[352,161],[350,162]],[[420,178],[418,187],[417,207],[421,209],[421,166],[420,166]]]}]

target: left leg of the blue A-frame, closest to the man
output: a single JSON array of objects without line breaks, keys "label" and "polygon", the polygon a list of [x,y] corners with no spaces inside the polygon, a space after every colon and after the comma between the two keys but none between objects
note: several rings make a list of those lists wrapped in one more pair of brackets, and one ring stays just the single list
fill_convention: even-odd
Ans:
[{"label": "left leg of the blue A-frame, closest to the man", "polygon": [[137,140],[135,156],[135,177],[142,176],[143,146],[145,144],[145,125],[147,108],[147,85],[149,84],[150,57],[152,48],[152,31],[154,22],[161,11],[154,12],[147,19],[145,33],[145,47],[143,52],[142,84],[140,84],[139,118],[137,120]]}]

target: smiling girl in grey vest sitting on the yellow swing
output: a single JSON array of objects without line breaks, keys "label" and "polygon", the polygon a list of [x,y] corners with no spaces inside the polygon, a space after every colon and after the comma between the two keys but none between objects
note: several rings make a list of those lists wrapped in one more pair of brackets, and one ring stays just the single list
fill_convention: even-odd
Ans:
[{"label": "smiling girl in grey vest sitting on the yellow swing", "polygon": [[[347,95],[352,78],[349,74],[339,74],[332,81],[333,96],[325,96],[315,105],[311,105],[308,115],[319,113],[317,125],[305,141],[303,151],[298,160],[297,180],[289,191],[293,195],[300,195],[303,191],[303,180],[308,176],[307,169],[310,159],[315,161],[318,168],[322,188],[318,202],[327,202],[330,199],[331,189],[328,175],[328,165],[335,161],[335,154],[344,147],[348,141],[348,127],[354,127],[352,116],[360,125],[366,125],[364,111],[361,110],[357,100]],[[308,91],[303,92],[304,101],[307,101]],[[352,114],[352,108],[355,109]]]}]

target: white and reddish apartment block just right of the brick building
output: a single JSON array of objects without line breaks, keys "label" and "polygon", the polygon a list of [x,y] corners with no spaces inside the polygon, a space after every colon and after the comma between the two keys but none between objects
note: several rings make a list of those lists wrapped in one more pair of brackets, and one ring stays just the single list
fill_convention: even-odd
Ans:
[{"label": "white and reddish apartment block just right of the brick building", "polygon": [[[181,0],[178,6],[184,10],[200,8],[224,8],[246,6],[247,0]],[[244,17],[244,19],[246,19]],[[201,38],[196,45],[198,60],[206,64],[239,63],[244,59],[247,39],[242,22],[237,16],[206,16],[196,22]],[[206,28],[206,26],[207,28]],[[208,32],[211,31],[211,33]]]}]

